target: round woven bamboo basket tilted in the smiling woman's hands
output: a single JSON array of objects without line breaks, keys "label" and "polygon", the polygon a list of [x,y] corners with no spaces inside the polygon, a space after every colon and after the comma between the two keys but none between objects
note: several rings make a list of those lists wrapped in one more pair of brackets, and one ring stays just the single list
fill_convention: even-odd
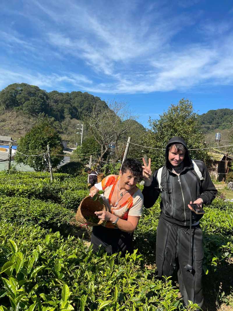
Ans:
[{"label": "round woven bamboo basket tilted in the smiling woman's hands", "polygon": [[93,201],[93,199],[88,196],[85,197],[77,210],[75,219],[81,224],[86,224],[89,226],[99,226],[104,220],[101,220],[94,214],[95,211],[107,211],[107,207],[101,204],[98,200]]}]

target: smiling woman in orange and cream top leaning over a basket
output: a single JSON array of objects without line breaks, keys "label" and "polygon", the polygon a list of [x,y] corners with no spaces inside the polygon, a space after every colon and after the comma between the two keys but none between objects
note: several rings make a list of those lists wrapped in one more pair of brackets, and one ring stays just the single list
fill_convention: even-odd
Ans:
[{"label": "smiling woman in orange and cream top leaning over a basket", "polygon": [[104,190],[108,211],[96,211],[102,225],[94,226],[91,244],[94,252],[102,245],[108,254],[133,252],[133,233],[142,215],[143,195],[136,184],[142,178],[142,166],[137,160],[126,159],[119,175],[108,175],[90,189],[93,197]]}]

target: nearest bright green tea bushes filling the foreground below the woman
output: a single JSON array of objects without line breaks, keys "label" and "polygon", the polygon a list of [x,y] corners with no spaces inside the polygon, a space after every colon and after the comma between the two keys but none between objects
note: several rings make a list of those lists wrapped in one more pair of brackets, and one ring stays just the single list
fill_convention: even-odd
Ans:
[{"label": "nearest bright green tea bushes filling the foreground below the woman", "polygon": [[[13,227],[13,228],[12,228]],[[1,310],[194,310],[183,308],[171,281],[141,269],[136,251],[97,255],[80,239],[39,226],[0,223]],[[14,240],[9,239],[14,237]],[[20,243],[25,240],[26,243]]]}]

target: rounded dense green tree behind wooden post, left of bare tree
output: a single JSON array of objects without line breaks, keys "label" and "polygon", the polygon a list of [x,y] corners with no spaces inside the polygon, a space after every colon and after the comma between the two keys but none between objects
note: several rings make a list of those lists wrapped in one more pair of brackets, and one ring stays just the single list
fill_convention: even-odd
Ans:
[{"label": "rounded dense green tree behind wooden post, left of bare tree", "polygon": [[30,165],[35,171],[48,170],[47,143],[50,145],[52,166],[56,167],[63,160],[63,156],[55,154],[61,155],[63,146],[51,120],[45,117],[39,119],[30,132],[19,140],[15,161]]}]

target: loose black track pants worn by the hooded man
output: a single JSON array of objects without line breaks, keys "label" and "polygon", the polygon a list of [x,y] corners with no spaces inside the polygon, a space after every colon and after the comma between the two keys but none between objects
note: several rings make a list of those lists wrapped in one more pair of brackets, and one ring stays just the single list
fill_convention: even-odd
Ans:
[{"label": "loose black track pants worn by the hooded man", "polygon": [[160,218],[157,228],[156,266],[158,276],[172,276],[177,269],[180,293],[188,305],[188,300],[203,304],[202,262],[203,236],[199,226],[192,229],[192,265],[193,271],[186,270],[189,263],[189,228],[173,225]]}]

